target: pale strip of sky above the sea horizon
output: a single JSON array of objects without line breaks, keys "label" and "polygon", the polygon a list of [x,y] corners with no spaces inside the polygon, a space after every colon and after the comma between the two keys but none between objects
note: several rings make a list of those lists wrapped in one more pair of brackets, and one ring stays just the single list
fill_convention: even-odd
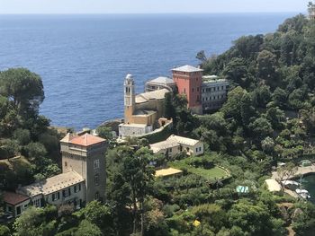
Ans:
[{"label": "pale strip of sky above the sea horizon", "polygon": [[0,0],[0,13],[305,13],[310,0]]}]

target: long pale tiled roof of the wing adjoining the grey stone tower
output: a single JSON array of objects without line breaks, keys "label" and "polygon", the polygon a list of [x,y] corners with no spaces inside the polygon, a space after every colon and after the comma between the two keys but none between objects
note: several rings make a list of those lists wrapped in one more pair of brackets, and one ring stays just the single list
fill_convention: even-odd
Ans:
[{"label": "long pale tiled roof of the wing adjoining the grey stone tower", "polygon": [[83,181],[85,179],[76,173],[76,171],[69,170],[66,173],[58,174],[49,179],[20,188],[20,190],[29,197],[34,197],[40,194],[48,195]]}]

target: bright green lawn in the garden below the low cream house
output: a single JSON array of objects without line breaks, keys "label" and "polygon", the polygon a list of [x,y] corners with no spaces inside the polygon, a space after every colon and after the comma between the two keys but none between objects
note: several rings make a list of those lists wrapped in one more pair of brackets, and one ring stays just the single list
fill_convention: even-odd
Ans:
[{"label": "bright green lawn in the garden below the low cream house", "polygon": [[187,163],[187,160],[192,160],[192,158],[184,159],[181,161],[169,162],[169,166],[180,169],[187,170],[189,173],[202,176],[204,179],[226,179],[229,178],[229,172],[223,170],[218,166],[214,166],[211,169],[204,169],[202,167],[193,167]]}]

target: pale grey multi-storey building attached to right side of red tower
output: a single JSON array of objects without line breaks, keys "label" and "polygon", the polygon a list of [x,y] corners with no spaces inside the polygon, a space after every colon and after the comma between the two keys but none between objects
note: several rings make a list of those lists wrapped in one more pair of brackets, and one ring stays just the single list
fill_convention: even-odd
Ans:
[{"label": "pale grey multi-storey building attached to right side of red tower", "polygon": [[202,110],[220,109],[227,100],[229,81],[218,76],[202,76]]}]

